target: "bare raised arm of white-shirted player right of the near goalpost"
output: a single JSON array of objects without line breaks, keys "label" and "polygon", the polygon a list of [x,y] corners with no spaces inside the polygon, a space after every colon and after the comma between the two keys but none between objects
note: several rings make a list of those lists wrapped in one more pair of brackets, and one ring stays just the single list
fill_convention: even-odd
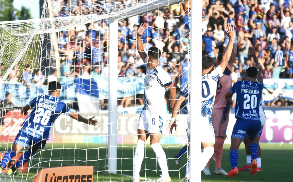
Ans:
[{"label": "bare raised arm of white-shirted player right of the near goalpost", "polygon": [[228,24],[228,25],[226,25],[226,30],[227,30],[227,32],[225,32],[225,33],[229,37],[229,43],[226,47],[226,50],[223,54],[222,61],[220,63],[220,66],[221,66],[223,73],[227,67],[229,60],[230,60],[231,53],[233,50],[234,38],[235,38],[234,26],[232,26],[231,24]]}]

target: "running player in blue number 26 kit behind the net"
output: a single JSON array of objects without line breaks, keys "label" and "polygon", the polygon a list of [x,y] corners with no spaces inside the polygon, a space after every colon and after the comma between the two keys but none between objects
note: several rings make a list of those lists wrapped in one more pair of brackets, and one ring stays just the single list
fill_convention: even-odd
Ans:
[{"label": "running player in blue number 26 kit behind the net", "polygon": [[13,174],[20,166],[29,161],[38,149],[43,149],[49,139],[50,129],[60,114],[69,115],[71,118],[89,125],[100,124],[99,121],[93,120],[94,117],[86,119],[79,114],[72,113],[66,103],[59,101],[58,96],[61,91],[59,82],[50,82],[48,91],[49,95],[38,96],[23,107],[21,111],[23,115],[27,115],[31,108],[34,108],[34,110],[23,122],[21,130],[14,139],[12,149],[5,153],[0,164],[0,173],[23,147],[30,148],[16,161],[15,165],[7,170],[8,175]]}]

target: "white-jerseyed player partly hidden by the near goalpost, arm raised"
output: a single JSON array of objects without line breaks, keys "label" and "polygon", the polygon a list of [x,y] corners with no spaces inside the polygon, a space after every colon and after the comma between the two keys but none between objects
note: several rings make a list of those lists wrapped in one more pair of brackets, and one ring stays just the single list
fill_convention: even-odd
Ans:
[{"label": "white-jerseyed player partly hidden by the near goalpost, arm raised", "polygon": [[[200,171],[204,169],[204,167],[207,165],[207,162],[214,154],[215,134],[212,124],[212,109],[217,91],[218,80],[223,75],[223,72],[227,67],[228,61],[232,53],[235,38],[234,26],[228,24],[226,25],[226,29],[226,35],[229,37],[229,43],[226,47],[222,61],[219,66],[214,69],[215,61],[212,57],[206,56],[202,58],[202,97],[200,98],[202,101],[202,117],[200,119],[200,122],[198,122],[198,127],[200,128],[201,135],[200,140],[202,142],[203,149],[200,156],[201,162],[199,163]],[[171,122],[169,124],[169,130],[172,131],[173,127],[176,126],[176,122],[173,118]]]}]

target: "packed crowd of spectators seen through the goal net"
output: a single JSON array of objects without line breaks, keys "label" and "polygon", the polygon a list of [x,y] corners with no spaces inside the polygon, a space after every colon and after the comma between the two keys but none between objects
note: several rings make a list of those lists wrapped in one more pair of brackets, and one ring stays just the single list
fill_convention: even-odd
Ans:
[{"label": "packed crowd of spectators seen through the goal net", "polygon": [[[108,1],[52,0],[53,15],[64,17],[90,14],[93,8],[101,8],[102,2],[107,4]],[[141,23],[146,22],[149,27],[142,36],[145,50],[152,46],[161,50],[160,66],[170,74],[174,86],[178,88],[178,92],[180,91],[189,76],[190,11],[188,9],[190,5],[191,2],[186,1],[180,5],[172,5],[118,21],[118,79],[127,79],[127,77],[144,79],[146,64],[137,52],[136,31]],[[94,12],[97,12],[96,10]],[[105,11],[105,8],[100,11]],[[49,75],[45,76],[44,69],[34,69],[33,65],[25,65],[19,71],[16,65],[14,70],[18,71],[11,73],[9,80],[22,82],[29,88],[31,84],[41,86],[54,80],[66,82],[68,78],[106,79],[109,76],[108,31],[107,19],[60,31],[57,33],[60,69],[50,68]],[[119,99],[120,107],[125,108],[130,104],[143,105],[143,95]],[[102,100],[102,108],[105,108],[104,103],[105,101]]]}]

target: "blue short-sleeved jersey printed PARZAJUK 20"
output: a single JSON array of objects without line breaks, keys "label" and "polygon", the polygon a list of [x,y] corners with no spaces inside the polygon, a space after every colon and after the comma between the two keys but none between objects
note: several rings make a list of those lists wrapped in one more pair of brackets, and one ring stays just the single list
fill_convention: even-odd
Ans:
[{"label": "blue short-sleeved jersey printed PARZAJUK 20", "polygon": [[230,93],[236,93],[235,118],[260,120],[259,105],[263,83],[238,81],[232,86]]}]

